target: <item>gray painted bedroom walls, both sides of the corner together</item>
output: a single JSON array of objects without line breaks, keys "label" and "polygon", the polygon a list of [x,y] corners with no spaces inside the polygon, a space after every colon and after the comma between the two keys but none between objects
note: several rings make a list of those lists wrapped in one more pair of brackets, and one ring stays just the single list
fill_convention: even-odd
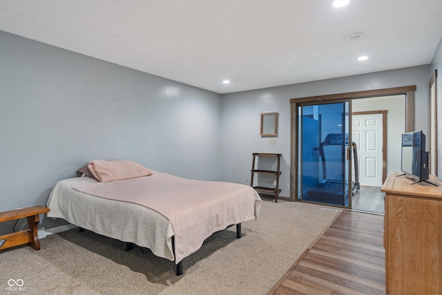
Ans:
[{"label": "gray painted bedroom walls, both sides of the corner together", "polygon": [[[442,49],[431,66],[227,95],[1,31],[0,64],[3,211],[46,204],[58,180],[96,158],[249,184],[253,152],[282,153],[281,196],[288,197],[291,98],[416,85],[416,129],[426,132],[430,68],[441,66]],[[278,137],[262,138],[260,113],[274,111],[280,114]],[[46,228],[59,224],[43,222]],[[0,232],[12,226],[3,222]]]}]

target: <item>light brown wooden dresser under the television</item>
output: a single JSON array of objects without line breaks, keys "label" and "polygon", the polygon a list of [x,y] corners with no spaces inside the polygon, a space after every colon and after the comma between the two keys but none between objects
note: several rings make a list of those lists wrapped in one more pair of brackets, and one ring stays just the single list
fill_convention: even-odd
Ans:
[{"label": "light brown wooden dresser under the television", "polygon": [[442,182],[390,173],[385,192],[385,292],[442,294]]}]

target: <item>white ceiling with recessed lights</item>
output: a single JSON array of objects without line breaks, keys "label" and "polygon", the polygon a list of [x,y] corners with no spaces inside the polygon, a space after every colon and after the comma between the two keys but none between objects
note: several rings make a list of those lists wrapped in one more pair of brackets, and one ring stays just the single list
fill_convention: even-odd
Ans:
[{"label": "white ceiling with recessed lights", "polygon": [[442,1],[0,0],[0,30],[232,93],[430,64]]}]

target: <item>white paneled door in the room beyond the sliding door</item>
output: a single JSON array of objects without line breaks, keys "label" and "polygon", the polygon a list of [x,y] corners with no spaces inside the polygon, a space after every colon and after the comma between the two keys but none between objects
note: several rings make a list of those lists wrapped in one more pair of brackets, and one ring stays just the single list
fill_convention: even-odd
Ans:
[{"label": "white paneled door in the room beyond the sliding door", "polygon": [[[383,115],[353,115],[352,140],[357,145],[359,183],[369,187],[382,187]],[[354,165],[352,169],[354,178]]]}]

